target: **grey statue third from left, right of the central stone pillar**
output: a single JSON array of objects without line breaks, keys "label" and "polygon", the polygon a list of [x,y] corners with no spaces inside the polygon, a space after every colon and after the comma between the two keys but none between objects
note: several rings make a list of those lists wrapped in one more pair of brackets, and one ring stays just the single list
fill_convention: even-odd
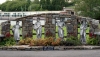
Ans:
[{"label": "grey statue third from left, right of the central stone pillar", "polygon": [[57,22],[58,25],[58,35],[61,39],[64,38],[64,31],[63,31],[63,26],[65,25],[64,21],[60,19],[60,21]]}]

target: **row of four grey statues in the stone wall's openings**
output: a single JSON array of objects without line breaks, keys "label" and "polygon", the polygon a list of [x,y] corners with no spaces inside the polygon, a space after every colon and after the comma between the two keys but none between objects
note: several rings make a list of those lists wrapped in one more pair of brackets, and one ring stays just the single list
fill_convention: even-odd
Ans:
[{"label": "row of four grey statues in the stone wall's openings", "polygon": [[[60,19],[60,21],[57,21],[57,25],[58,25],[58,35],[63,40],[64,39],[63,27],[65,26],[63,19]],[[19,28],[20,28],[19,21],[17,21],[16,25],[14,25],[12,28],[14,38],[17,42],[20,40]],[[37,22],[34,24],[33,28],[36,31],[37,38],[41,38],[42,26],[41,26],[40,18],[37,18]],[[81,41],[83,43],[86,43],[86,29],[87,29],[87,23],[86,21],[82,21],[81,26],[80,26],[80,35],[81,35]]]}]

